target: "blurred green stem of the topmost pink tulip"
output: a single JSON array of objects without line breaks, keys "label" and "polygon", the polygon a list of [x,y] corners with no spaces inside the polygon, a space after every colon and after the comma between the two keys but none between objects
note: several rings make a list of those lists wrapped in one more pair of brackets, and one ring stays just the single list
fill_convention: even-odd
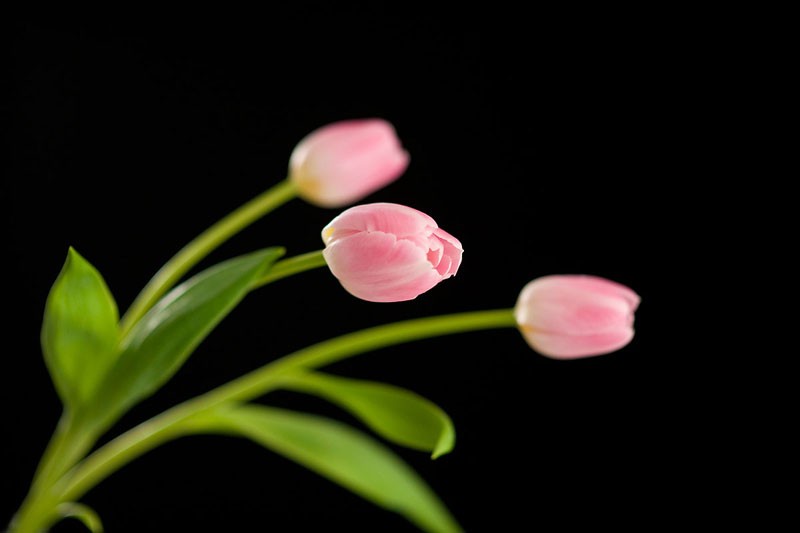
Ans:
[{"label": "blurred green stem of the topmost pink tulip", "polygon": [[124,337],[142,316],[194,265],[220,244],[270,211],[295,197],[294,183],[285,179],[234,210],[198,235],[167,261],[142,289],[120,321]]}]

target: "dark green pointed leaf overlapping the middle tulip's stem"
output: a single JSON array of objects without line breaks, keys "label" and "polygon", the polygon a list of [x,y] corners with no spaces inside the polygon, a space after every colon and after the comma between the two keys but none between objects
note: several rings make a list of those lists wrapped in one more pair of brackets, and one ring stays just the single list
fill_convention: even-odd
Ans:
[{"label": "dark green pointed leaf overlapping the middle tulip's stem", "polygon": [[167,293],[122,340],[100,390],[101,418],[108,422],[158,390],[283,253],[268,248],[230,259]]}]

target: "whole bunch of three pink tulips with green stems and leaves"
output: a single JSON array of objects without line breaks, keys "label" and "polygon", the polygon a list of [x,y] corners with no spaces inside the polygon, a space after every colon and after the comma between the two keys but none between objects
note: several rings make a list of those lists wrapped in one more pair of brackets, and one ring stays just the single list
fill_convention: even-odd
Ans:
[{"label": "whole bunch of three pink tulips with green stems and leaves", "polygon": [[[377,436],[438,457],[452,449],[454,429],[436,405],[393,385],[320,369],[384,346],[492,328],[516,329],[533,350],[554,359],[607,354],[633,339],[639,296],[632,289],[589,275],[547,275],[523,287],[513,308],[347,333],[270,361],[95,448],[114,422],[180,369],[244,297],[265,285],[327,267],[354,297],[388,303],[425,297],[455,276],[462,266],[461,241],[431,216],[397,203],[351,206],[396,180],[408,164],[409,154],[384,120],[349,120],[311,132],[291,154],[286,180],[181,249],[121,318],[98,270],[70,249],[45,304],[42,328],[45,361],[64,414],[10,533],[45,531],[66,516],[100,531],[99,515],[79,502],[86,491],[178,435],[214,432],[283,454],[401,513],[421,530],[461,531],[424,480],[377,441],[342,422],[252,400],[277,389],[318,395]],[[294,197],[325,208],[349,206],[321,229],[323,249],[284,259],[283,248],[265,248],[181,282],[219,244]],[[314,444],[319,442],[325,446]]]}]

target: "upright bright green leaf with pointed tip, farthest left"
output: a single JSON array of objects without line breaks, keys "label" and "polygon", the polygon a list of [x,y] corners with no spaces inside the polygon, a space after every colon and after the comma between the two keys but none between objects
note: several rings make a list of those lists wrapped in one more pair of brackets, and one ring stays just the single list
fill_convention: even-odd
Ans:
[{"label": "upright bright green leaf with pointed tip, farthest left", "polygon": [[89,400],[117,357],[117,304],[105,281],[70,247],[45,304],[42,352],[65,404]]}]

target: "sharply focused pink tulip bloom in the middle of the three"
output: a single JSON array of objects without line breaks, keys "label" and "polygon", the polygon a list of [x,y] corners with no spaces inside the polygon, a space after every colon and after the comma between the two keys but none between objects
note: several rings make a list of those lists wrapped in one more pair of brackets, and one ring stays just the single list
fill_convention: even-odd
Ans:
[{"label": "sharply focused pink tulip bloom in the middle of the three", "polygon": [[370,302],[413,300],[455,275],[463,253],[431,217],[399,204],[351,207],[325,226],[322,240],[333,275]]}]

